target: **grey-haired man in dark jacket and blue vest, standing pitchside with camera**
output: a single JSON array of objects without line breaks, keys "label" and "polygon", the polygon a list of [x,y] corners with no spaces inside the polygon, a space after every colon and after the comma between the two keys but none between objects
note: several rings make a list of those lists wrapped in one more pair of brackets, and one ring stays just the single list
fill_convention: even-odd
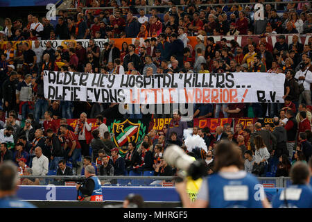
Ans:
[{"label": "grey-haired man in dark jacket and blue vest, standing pitchside with camera", "polygon": [[92,165],[85,167],[85,181],[76,185],[79,201],[103,201],[101,182]]}]

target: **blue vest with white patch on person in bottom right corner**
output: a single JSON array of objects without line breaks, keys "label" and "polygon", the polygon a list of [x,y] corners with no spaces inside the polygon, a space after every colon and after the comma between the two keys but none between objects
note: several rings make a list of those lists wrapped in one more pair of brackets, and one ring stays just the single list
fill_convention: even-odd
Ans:
[{"label": "blue vest with white patch on person in bottom right corner", "polygon": [[279,190],[272,198],[272,207],[312,208],[312,189],[310,185],[292,185],[286,188],[286,194],[285,189]]}]

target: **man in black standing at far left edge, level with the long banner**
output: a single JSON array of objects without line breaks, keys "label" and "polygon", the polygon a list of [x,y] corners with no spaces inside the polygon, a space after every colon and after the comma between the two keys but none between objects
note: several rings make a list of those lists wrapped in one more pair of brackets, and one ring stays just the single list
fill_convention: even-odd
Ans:
[{"label": "man in black standing at far left edge, level with the long banner", "polygon": [[16,71],[10,73],[10,77],[2,85],[3,109],[4,111],[17,110],[16,108],[16,87],[19,83]]}]

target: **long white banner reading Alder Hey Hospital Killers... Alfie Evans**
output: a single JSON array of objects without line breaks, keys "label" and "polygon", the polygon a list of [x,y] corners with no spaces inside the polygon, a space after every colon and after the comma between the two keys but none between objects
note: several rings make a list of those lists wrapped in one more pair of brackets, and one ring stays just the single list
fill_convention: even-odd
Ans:
[{"label": "long white banner reading Alder Hey Hospital Killers... Alfie Evans", "polygon": [[284,103],[284,74],[108,75],[44,71],[44,96],[96,103]]}]

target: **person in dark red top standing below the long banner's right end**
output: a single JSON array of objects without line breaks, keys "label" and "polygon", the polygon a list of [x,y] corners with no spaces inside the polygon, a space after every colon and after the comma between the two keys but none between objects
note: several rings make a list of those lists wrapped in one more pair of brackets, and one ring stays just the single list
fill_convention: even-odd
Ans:
[{"label": "person in dark red top standing below the long banner's right end", "polygon": [[290,158],[293,157],[293,149],[295,148],[295,140],[296,140],[296,134],[297,134],[297,128],[298,123],[296,118],[294,117],[292,110],[286,111],[286,117],[288,119],[286,126],[284,126],[286,132],[287,132],[287,149],[288,149],[288,155]]}]

